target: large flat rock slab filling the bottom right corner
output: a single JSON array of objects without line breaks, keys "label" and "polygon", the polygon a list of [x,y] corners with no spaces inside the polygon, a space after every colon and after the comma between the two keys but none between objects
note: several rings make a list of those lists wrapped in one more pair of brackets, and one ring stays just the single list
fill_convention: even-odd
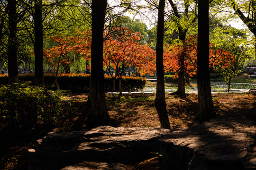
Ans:
[{"label": "large flat rock slab filling the bottom right corner", "polygon": [[159,139],[162,170],[256,170],[256,109],[240,110]]}]

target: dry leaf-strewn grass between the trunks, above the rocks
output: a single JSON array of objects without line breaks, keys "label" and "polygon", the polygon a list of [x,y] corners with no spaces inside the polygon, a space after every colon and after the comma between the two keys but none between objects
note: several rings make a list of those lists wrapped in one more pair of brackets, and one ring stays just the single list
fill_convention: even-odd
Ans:
[{"label": "dry leaf-strewn grass between the trunks, above the rocks", "polygon": [[[66,113],[58,119],[55,130],[79,130],[74,129],[73,124],[81,123],[80,117],[86,113],[84,109],[87,97],[86,94],[66,97],[63,110]],[[198,111],[197,94],[187,94],[186,98],[166,94],[165,98],[171,128],[188,128],[199,123],[195,119]],[[212,94],[212,98],[218,115],[256,106],[256,95],[252,93],[218,93]],[[127,94],[121,97],[107,95],[111,119],[109,125],[113,127],[160,127],[154,99],[155,94]],[[84,126],[86,125],[83,124],[79,128]]]}]

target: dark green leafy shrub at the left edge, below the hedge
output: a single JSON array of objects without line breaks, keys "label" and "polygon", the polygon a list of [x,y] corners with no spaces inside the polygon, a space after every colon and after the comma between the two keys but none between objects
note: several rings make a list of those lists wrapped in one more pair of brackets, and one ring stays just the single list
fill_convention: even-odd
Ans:
[{"label": "dark green leafy shrub at the left edge, below the hedge", "polygon": [[0,123],[11,127],[52,127],[61,109],[61,93],[29,83],[0,87]]}]

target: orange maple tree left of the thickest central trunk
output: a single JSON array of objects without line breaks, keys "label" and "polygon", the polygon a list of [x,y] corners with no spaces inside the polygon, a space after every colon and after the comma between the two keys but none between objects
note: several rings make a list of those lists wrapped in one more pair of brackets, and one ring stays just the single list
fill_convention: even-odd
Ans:
[{"label": "orange maple tree left of the thickest central trunk", "polygon": [[50,37],[57,45],[44,51],[44,58],[55,77],[57,90],[59,79],[70,64],[80,57],[91,57],[91,31],[77,31],[72,36],[54,35]]}]

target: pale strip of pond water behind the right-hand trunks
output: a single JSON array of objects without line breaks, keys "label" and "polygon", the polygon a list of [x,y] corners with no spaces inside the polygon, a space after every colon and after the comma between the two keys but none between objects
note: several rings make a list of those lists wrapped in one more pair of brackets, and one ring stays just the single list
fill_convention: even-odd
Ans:
[{"label": "pale strip of pond water behind the right-hand trunks", "polygon": [[[165,87],[165,93],[176,92],[178,87]],[[230,93],[244,93],[248,92],[249,89],[256,88],[256,84],[250,83],[231,83]],[[155,92],[156,87],[145,87],[143,92]],[[228,85],[223,82],[211,82],[212,93],[227,93]],[[197,93],[197,87],[186,87],[186,93]]]}]

